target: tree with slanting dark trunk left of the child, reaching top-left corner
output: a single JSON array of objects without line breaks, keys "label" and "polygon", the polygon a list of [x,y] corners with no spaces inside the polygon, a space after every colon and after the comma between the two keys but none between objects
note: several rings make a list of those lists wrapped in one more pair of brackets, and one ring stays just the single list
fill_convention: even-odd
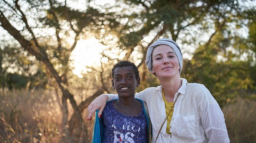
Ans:
[{"label": "tree with slanting dark trunk left of the child, reaching top-left corner", "polygon": [[[60,88],[63,129],[66,130],[68,122],[67,99],[77,116],[78,127],[84,126],[82,111],[68,88],[69,57],[83,30],[89,29],[95,16],[101,14],[89,5],[85,11],[74,10],[68,7],[66,1],[3,0],[0,3],[1,27],[18,41],[19,48],[45,65]],[[71,45],[68,42],[70,39],[73,41]],[[67,130],[65,134],[70,137]],[[82,137],[82,142],[87,140],[86,131]]]}]

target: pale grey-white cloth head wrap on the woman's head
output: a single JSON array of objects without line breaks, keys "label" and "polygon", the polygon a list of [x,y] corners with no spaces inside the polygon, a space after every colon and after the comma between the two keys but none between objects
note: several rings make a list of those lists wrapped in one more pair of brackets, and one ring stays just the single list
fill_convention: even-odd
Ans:
[{"label": "pale grey-white cloth head wrap on the woman's head", "polygon": [[[181,70],[182,70],[181,48],[179,48],[179,46],[176,44],[176,42],[171,39],[159,39],[148,47],[147,57],[146,57],[146,66],[148,67],[148,70],[152,73],[152,52],[153,52],[153,49],[158,45],[168,45],[173,49],[173,51],[175,52],[175,54],[178,58],[178,61],[179,61],[179,68],[180,68],[179,74],[181,74]],[[156,76],[155,73],[153,75]]]}]

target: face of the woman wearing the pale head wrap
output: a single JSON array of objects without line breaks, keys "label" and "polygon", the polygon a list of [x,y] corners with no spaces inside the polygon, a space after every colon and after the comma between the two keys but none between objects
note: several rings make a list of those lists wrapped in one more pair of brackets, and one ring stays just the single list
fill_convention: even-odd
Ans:
[{"label": "face of the woman wearing the pale head wrap", "polygon": [[179,61],[170,46],[156,46],[152,52],[152,73],[158,78],[179,77]]}]

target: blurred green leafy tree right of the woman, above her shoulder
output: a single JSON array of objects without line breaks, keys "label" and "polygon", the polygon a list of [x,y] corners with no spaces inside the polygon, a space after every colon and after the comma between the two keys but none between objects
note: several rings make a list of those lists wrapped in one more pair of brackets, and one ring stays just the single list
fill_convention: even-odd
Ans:
[{"label": "blurred green leafy tree right of the woman, above her shoulder", "polygon": [[250,75],[255,68],[254,45],[241,34],[251,25],[248,21],[252,20],[252,11],[254,8],[237,9],[228,16],[216,15],[216,30],[210,39],[199,45],[191,60],[185,61],[188,68],[183,71],[184,76],[191,82],[203,83],[221,106],[234,97],[250,98],[248,89],[255,89]]}]

